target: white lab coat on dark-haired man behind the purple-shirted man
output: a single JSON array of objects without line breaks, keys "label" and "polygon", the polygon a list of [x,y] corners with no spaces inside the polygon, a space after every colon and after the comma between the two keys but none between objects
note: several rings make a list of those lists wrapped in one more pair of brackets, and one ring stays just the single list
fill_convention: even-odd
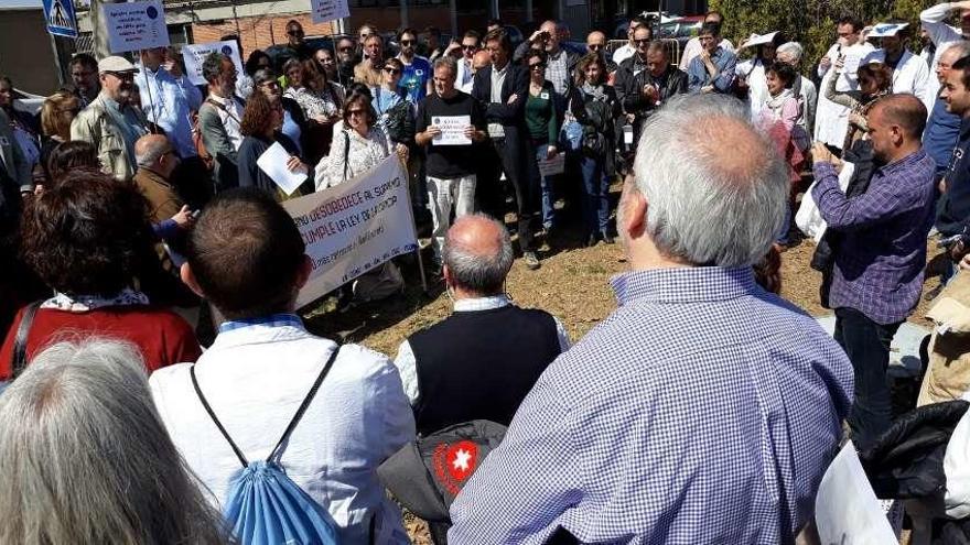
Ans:
[{"label": "white lab coat on dark-haired man behind the purple-shirted man", "polygon": [[[855,79],[859,64],[873,50],[874,47],[867,43],[859,43],[841,48],[845,67],[836,83],[836,90],[845,91],[859,87],[859,81]],[[834,64],[839,57],[839,44],[832,44],[826,56],[832,59]],[[824,89],[828,86],[829,79],[833,74],[836,74],[836,70],[831,68],[822,69],[819,66],[818,75],[822,78],[819,89]],[[824,92],[819,92],[818,96],[819,100],[815,117],[815,139],[836,148],[842,148],[845,145],[845,132],[849,130],[849,108],[827,99]]]}]

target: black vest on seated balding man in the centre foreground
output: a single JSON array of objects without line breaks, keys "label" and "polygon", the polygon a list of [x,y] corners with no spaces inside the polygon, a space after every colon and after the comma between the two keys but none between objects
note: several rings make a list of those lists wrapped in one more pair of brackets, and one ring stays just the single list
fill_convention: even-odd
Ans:
[{"label": "black vest on seated balding man in the centre foreground", "polygon": [[507,426],[561,351],[552,316],[515,305],[454,313],[408,341],[420,390],[414,423],[425,435],[479,418]]}]

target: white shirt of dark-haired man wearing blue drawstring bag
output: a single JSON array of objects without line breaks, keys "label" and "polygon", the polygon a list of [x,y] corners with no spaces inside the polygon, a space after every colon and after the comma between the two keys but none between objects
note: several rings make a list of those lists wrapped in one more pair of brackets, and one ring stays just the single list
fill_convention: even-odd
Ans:
[{"label": "white shirt of dark-haired man wearing blue drawstring bag", "polygon": [[[200,389],[250,461],[276,446],[335,348],[293,320],[223,331],[195,367]],[[222,510],[241,465],[198,401],[190,367],[160,369],[149,382],[169,435]],[[400,510],[376,469],[411,440],[414,418],[397,369],[384,355],[345,345],[280,462],[327,508],[341,543],[368,543],[370,519],[378,516],[375,543],[406,544]]]}]

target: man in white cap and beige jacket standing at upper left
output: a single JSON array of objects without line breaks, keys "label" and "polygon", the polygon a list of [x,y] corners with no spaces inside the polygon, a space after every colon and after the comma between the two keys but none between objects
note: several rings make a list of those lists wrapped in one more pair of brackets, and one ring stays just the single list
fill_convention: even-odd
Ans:
[{"label": "man in white cap and beige jacket standing at upper left", "polygon": [[148,133],[144,115],[131,106],[138,68],[125,57],[98,63],[101,92],[71,122],[71,140],[83,140],[98,151],[101,168],[116,179],[134,176],[134,142]]}]

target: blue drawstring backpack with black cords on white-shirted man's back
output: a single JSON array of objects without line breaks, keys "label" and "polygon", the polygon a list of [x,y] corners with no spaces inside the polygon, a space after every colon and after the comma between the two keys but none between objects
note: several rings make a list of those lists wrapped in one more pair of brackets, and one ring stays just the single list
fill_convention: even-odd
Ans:
[{"label": "blue drawstring backpack with black cords on white-shirted man's back", "polygon": [[216,417],[202,390],[195,380],[195,366],[190,368],[192,385],[198,395],[202,406],[212,417],[223,437],[233,447],[233,451],[242,464],[242,472],[231,482],[229,500],[225,508],[225,517],[233,526],[233,535],[242,545],[335,545],[337,543],[336,524],[330,513],[310,498],[293,482],[278,459],[280,448],[290,437],[300,422],[320,384],[337,357],[340,347],[330,355],[326,364],[303,399],[297,414],[283,432],[266,460],[250,464],[239,447],[233,443],[226,428]]}]

